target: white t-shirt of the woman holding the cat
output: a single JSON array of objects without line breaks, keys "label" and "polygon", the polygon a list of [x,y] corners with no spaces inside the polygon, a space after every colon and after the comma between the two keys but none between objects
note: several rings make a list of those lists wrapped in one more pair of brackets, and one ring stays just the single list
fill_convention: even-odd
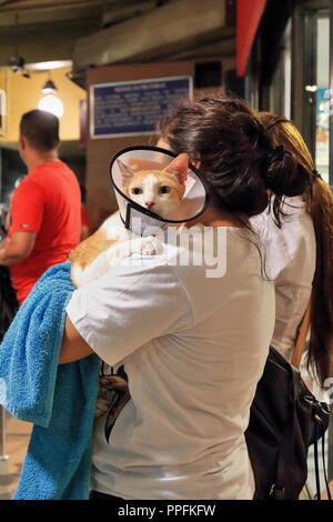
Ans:
[{"label": "white t-shirt of the woman holding the cat", "polygon": [[244,232],[220,230],[219,277],[208,277],[205,260],[184,263],[194,239],[132,255],[73,293],[69,318],[105,363],[124,367],[131,394],[109,443],[107,415],[95,423],[94,490],[253,498],[244,431],[272,338],[274,288]]}]

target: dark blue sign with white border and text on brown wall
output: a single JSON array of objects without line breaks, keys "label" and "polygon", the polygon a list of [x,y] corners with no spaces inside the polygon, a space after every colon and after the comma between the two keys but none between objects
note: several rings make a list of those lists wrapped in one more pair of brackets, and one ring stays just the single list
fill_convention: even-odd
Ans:
[{"label": "dark blue sign with white border and text on brown wall", "polygon": [[151,134],[172,106],[191,96],[191,77],[91,86],[91,137]]}]

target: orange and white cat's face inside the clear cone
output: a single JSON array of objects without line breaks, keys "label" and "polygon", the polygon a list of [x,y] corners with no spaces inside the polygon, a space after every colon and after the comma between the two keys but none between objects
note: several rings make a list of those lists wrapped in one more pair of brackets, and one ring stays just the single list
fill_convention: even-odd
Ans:
[{"label": "orange and white cat's face inside the clear cone", "polygon": [[122,190],[132,201],[167,218],[181,203],[189,169],[188,154],[179,154],[163,170],[133,171],[120,160]]}]

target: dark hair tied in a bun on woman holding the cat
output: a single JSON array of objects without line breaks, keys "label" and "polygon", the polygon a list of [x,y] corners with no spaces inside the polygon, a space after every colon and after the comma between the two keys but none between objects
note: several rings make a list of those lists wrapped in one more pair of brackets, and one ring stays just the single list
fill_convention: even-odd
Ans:
[{"label": "dark hair tied in a bun on woman holding the cat", "polygon": [[[158,126],[173,152],[200,161],[215,204],[248,217],[265,210],[270,189],[278,197],[306,190],[303,168],[284,147],[273,147],[254,111],[235,98],[183,101]],[[280,219],[280,204],[275,217]]]}]

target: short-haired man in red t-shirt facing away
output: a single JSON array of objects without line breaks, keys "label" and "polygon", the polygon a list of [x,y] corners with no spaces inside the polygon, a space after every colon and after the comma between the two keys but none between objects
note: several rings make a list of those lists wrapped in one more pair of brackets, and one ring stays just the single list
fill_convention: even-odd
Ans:
[{"label": "short-haired man in red t-shirt facing away", "polygon": [[58,158],[59,120],[32,110],[20,122],[19,151],[28,175],[13,193],[0,264],[10,268],[22,304],[41,274],[67,260],[79,243],[81,194],[74,173]]}]

